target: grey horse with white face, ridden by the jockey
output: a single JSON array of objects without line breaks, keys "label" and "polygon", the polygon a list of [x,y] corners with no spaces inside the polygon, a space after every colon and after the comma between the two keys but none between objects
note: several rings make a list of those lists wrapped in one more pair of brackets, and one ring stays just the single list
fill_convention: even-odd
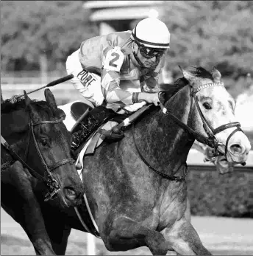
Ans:
[{"label": "grey horse with white face, ridden by the jockey", "polygon": [[[85,193],[109,251],[148,246],[153,255],[210,255],[185,216],[188,153],[198,139],[229,162],[243,163],[251,146],[220,72],[199,67],[182,73],[168,86],[174,90],[161,92],[161,108],[149,108],[121,141],[103,142],[85,156]],[[71,228],[87,230],[73,207],[49,211],[41,202],[41,208],[54,252],[63,255]]]}]

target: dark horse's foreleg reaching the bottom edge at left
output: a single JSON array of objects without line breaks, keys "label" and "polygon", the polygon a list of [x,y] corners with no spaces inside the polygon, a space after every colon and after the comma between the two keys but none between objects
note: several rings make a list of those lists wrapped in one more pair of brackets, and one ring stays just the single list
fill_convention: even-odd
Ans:
[{"label": "dark horse's foreleg reaching the bottom edge at left", "polygon": [[8,172],[19,196],[22,197],[24,202],[22,205],[23,218],[19,223],[32,242],[36,254],[55,255],[49,235],[46,232],[40,205],[32,190],[32,184],[29,180],[30,174],[24,170],[18,161],[10,167]]}]

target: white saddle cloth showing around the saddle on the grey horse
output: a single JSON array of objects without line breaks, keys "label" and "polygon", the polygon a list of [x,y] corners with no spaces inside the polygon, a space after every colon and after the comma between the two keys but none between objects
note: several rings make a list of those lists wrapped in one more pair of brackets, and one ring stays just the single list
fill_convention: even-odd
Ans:
[{"label": "white saddle cloth showing around the saddle on the grey horse", "polygon": [[[68,131],[71,131],[71,129],[74,127],[76,120],[71,114],[71,105],[73,103],[79,102],[79,100],[73,101],[71,103],[67,103],[65,105],[59,105],[58,108],[62,109],[65,112],[65,120],[63,120],[64,125],[66,126]],[[108,121],[104,125],[101,125],[93,136],[90,137],[88,142],[85,143],[84,147],[82,148],[82,151],[80,151],[79,156],[76,159],[76,166],[82,167],[81,169],[78,168],[78,174],[80,179],[82,180],[82,169],[83,169],[83,158],[88,153],[93,153],[99,145],[101,145],[101,142],[104,141],[105,136],[103,134],[98,133],[99,129],[103,128],[106,131],[111,130],[115,125],[118,125],[118,122],[115,121]]]}]

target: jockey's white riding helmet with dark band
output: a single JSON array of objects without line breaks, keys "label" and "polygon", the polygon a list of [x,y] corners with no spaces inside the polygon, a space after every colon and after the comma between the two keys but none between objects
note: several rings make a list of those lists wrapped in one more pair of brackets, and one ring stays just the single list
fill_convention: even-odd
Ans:
[{"label": "jockey's white riding helmet with dark band", "polygon": [[132,39],[149,48],[170,48],[171,34],[158,18],[144,18],[132,30]]}]

